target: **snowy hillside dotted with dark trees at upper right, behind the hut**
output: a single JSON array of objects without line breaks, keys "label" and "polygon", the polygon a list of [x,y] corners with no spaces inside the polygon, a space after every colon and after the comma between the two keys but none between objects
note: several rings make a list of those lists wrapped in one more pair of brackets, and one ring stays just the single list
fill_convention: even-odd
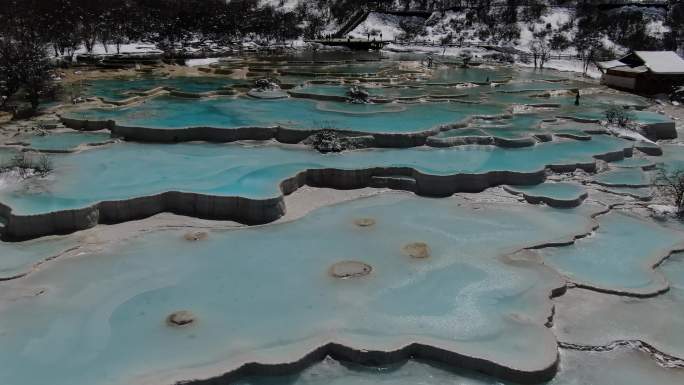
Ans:
[{"label": "snowy hillside dotted with dark trees at upper right, behind the hut", "polygon": [[[320,15],[324,19],[325,31],[334,31],[338,25],[355,16],[354,12],[363,9],[360,4],[352,0],[261,0],[262,4],[268,4],[284,10],[306,8],[309,12]],[[354,5],[359,3],[359,5]],[[394,11],[405,10],[405,1],[394,1],[386,5],[386,9]],[[413,1],[409,2],[411,10],[419,4],[428,8],[438,8],[438,4],[447,2]],[[534,3],[534,2],[533,2]],[[573,2],[565,2],[566,7],[550,6],[552,1],[538,0],[538,6],[511,7],[506,2],[483,2],[489,6],[467,8],[460,11],[434,11],[429,18],[416,16],[398,16],[381,12],[371,12],[368,18],[359,24],[350,33],[355,38],[373,37],[383,40],[409,40],[431,41],[435,43],[474,43],[493,44],[499,46],[515,47],[527,50],[535,37],[544,36],[549,43],[554,41],[557,47],[554,51],[572,53],[572,42],[578,32],[578,25],[583,22],[584,16]],[[553,2],[554,4],[556,2]],[[456,3],[455,3],[456,4]],[[493,4],[493,5],[491,5]],[[346,13],[335,7],[346,7]],[[485,9],[489,7],[488,9]],[[515,11],[511,11],[515,9]],[[669,28],[666,26],[666,10],[653,7],[625,6],[611,10],[590,10],[590,17],[596,20],[584,20],[585,27],[588,24],[596,25],[603,29],[604,36],[600,36],[603,46],[607,50],[627,51],[642,49],[643,45],[652,48],[655,43],[662,42]],[[592,15],[593,13],[593,15]],[[347,15],[346,19],[340,15]],[[430,15],[430,12],[425,12]],[[614,23],[615,26],[610,25]],[[643,34],[655,41],[643,41]],[[612,36],[610,36],[612,35]],[[635,36],[631,36],[635,35]],[[642,41],[639,41],[639,40]],[[629,47],[625,41],[636,41],[637,46]],[[622,44],[619,42],[621,41]],[[639,47],[638,45],[642,46]]]}]

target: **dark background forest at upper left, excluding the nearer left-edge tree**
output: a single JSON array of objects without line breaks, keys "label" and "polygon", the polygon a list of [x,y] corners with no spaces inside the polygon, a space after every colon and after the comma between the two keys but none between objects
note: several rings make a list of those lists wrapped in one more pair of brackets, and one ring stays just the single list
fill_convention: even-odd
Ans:
[{"label": "dark background forest at upper left, excluding the nearer left-edge tree", "polygon": [[[69,55],[83,46],[149,41],[170,49],[188,41],[230,42],[247,35],[285,40],[301,35],[307,15],[260,6],[258,0],[3,0],[0,34],[27,32]],[[17,28],[19,27],[19,28]]]}]

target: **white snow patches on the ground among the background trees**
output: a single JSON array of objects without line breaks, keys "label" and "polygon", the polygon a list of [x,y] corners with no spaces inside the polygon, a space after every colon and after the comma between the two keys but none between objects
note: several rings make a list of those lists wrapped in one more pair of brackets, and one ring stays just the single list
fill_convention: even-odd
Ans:
[{"label": "white snow patches on the ground among the background trees", "polygon": [[[285,11],[293,11],[298,6],[306,6],[309,11],[316,12],[317,7],[304,0],[260,0],[260,4],[268,4]],[[629,7],[626,7],[629,8]],[[627,9],[628,10],[628,9]],[[618,10],[617,13],[624,10]],[[322,12],[322,11],[321,11]],[[662,37],[668,31],[668,28],[663,24],[661,19],[658,19],[658,11],[653,11],[652,20],[648,23],[648,31],[655,37]],[[521,17],[522,13],[519,14]],[[617,17],[618,15],[616,15]],[[439,45],[444,40],[449,40],[453,43],[460,42],[463,48],[458,47],[433,47],[428,45],[403,45],[391,44],[387,47],[390,51],[401,52],[416,52],[416,53],[430,53],[433,55],[445,56],[460,56],[464,51],[470,52],[475,57],[482,57],[488,51],[476,48],[479,44],[496,44],[507,48],[513,48],[518,51],[529,52],[535,34],[546,31],[547,37],[552,35],[563,35],[567,41],[572,42],[575,39],[576,27],[572,25],[575,15],[574,10],[568,8],[549,8],[548,11],[534,22],[517,23],[517,28],[520,35],[517,39],[510,42],[497,41],[496,31],[495,36],[488,36],[489,33],[481,33],[483,30],[489,29],[486,25],[472,22],[466,19],[464,12],[435,12],[429,19],[420,17],[402,17],[395,15],[388,15],[383,13],[372,12],[368,18],[358,25],[350,35],[354,38],[366,38],[371,34],[376,39],[396,40],[405,34],[404,26],[406,24],[424,25],[424,30],[415,37],[415,41],[425,41],[431,44]],[[329,22],[325,28],[325,33],[334,33],[337,28],[335,22]],[[485,31],[492,32],[492,31]],[[612,49],[615,52],[624,52],[624,47],[621,47],[612,42],[607,37],[604,37],[603,44],[606,48]],[[305,46],[303,39],[298,39],[288,43],[288,46],[293,48],[300,48]],[[246,41],[243,48],[257,48],[254,42]],[[192,48],[188,48],[192,52]],[[97,44],[94,48],[95,54],[115,54],[117,52],[116,46],[109,44],[107,49],[102,44]],[[120,52],[123,54],[145,54],[145,53],[161,53],[156,47],[147,43],[131,43],[124,44],[120,47]],[[76,54],[86,53],[84,48],[77,50]],[[491,51],[489,51],[491,53]],[[574,48],[569,48],[564,51],[552,51],[552,55],[576,55]],[[190,61],[191,65],[204,65],[211,62],[203,62],[201,60]],[[519,63],[521,66],[531,66],[532,64]],[[583,72],[583,65],[579,60],[550,60],[545,65],[547,68],[552,68],[560,71]],[[592,78],[600,78],[601,72],[594,65],[591,65],[587,73]]]}]

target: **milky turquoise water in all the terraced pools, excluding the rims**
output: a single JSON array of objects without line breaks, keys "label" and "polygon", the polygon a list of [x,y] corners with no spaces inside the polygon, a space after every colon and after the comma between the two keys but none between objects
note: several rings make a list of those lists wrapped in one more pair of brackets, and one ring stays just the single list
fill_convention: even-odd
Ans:
[{"label": "milky turquoise water in all the terraced pools, excluding the rims", "polygon": [[[377,72],[394,65],[277,66],[285,71],[346,74]],[[159,97],[137,106],[93,109],[77,115],[166,129],[281,125],[401,133],[455,123],[472,115],[501,114],[513,103],[562,105],[510,119],[476,119],[466,128],[437,135],[527,138],[538,132],[581,134],[594,127],[561,123],[540,128],[542,119],[557,115],[602,119],[611,104],[640,106],[643,102],[638,97],[594,94],[583,96],[582,105],[575,107],[574,98],[567,95],[533,97],[548,90],[587,86],[570,80],[544,81],[553,78],[548,72],[440,68],[430,76],[429,80],[370,87],[369,91],[384,97],[466,93],[467,100],[483,103],[354,105],[299,99]],[[497,88],[429,85],[508,76],[515,79]],[[285,78],[307,80],[305,76]],[[89,89],[102,97],[123,99],[130,90],[167,86],[204,92],[234,82],[144,77],[95,81]],[[304,89],[344,95],[347,86]],[[634,114],[642,122],[667,121],[654,113]],[[64,133],[32,137],[30,142],[36,149],[67,150],[108,137],[103,133]],[[55,171],[48,177],[14,184],[0,180],[0,202],[17,214],[40,214],[171,190],[270,198],[280,195],[281,180],[305,169],[412,167],[432,175],[533,172],[549,164],[588,163],[595,155],[631,144],[611,136],[591,136],[590,141],[557,140],[521,149],[470,145],[323,155],[273,144],[119,143],[50,155]],[[640,168],[650,166],[651,161],[684,168],[681,148],[665,145],[664,151],[660,159],[614,162],[611,167],[616,170],[596,175],[595,181],[647,184],[648,174]],[[12,153],[14,150],[0,149],[0,155]],[[417,183],[420,185],[420,178]],[[559,200],[585,193],[573,183],[512,188]],[[650,195],[647,188],[609,189]],[[593,224],[589,213],[596,207],[587,204],[557,210],[526,204],[472,204],[468,199],[471,197],[423,199],[388,193],[320,209],[291,223],[208,231],[207,239],[197,242],[185,240],[185,230],[167,229],[107,243],[98,240],[97,232],[108,228],[98,227],[87,235],[0,243],[0,279],[32,270],[27,277],[4,282],[0,288],[0,384],[171,384],[223,373],[245,362],[291,362],[331,341],[368,350],[395,350],[420,342],[522,370],[553,364],[557,352],[553,334],[563,341],[596,345],[638,338],[684,357],[684,257],[675,255],[653,270],[671,248],[684,247],[681,233],[612,212],[599,216],[600,227],[573,245],[525,250],[521,255],[527,258],[511,261],[504,256],[523,247],[588,232]],[[360,218],[372,218],[375,224],[357,226],[355,221]],[[82,242],[88,247],[33,269],[36,263]],[[407,254],[405,246],[415,242],[429,246],[428,258]],[[346,280],[331,277],[333,264],[350,260],[367,263],[371,273]],[[545,326],[552,314],[549,295],[564,282],[550,268],[572,282],[606,290],[653,294],[668,285],[670,290],[655,298],[634,299],[571,289],[554,300],[555,327],[549,329]],[[186,328],[168,327],[166,316],[178,310],[192,311],[196,323]],[[658,368],[635,351],[561,350],[559,375],[549,385],[675,385],[681,384],[682,376],[681,370]],[[343,366],[330,359],[296,375],[239,382],[323,383],[502,384],[481,374],[424,362],[370,369]]]}]

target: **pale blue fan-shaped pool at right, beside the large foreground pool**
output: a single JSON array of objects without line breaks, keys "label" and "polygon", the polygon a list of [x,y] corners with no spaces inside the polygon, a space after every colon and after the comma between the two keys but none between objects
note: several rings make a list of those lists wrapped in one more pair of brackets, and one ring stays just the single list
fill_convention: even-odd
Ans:
[{"label": "pale blue fan-shaped pool at right, beside the large foreground pool", "polygon": [[653,265],[670,249],[684,246],[682,234],[619,213],[598,221],[594,234],[572,246],[539,250],[544,261],[572,281],[594,287],[637,293],[662,289],[665,283]]}]

